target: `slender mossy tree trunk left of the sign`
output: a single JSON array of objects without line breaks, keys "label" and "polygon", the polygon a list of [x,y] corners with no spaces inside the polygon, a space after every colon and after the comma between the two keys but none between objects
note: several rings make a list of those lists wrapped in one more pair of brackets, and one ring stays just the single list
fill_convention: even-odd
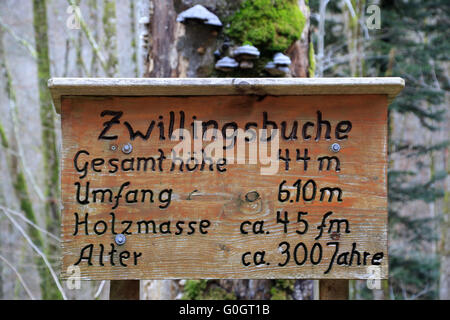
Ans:
[{"label": "slender mossy tree trunk left of the sign", "polygon": [[[59,212],[59,156],[55,130],[55,112],[50,92],[47,88],[47,81],[50,78],[50,59],[47,35],[47,3],[45,0],[33,0],[33,26],[37,53],[37,81],[42,127],[46,229],[53,234],[59,234],[61,221]],[[52,257],[58,256],[59,246],[48,243],[45,249],[49,261],[52,264],[56,263]],[[43,299],[62,298],[51,277],[44,277],[42,281],[45,288],[42,292]]]}]

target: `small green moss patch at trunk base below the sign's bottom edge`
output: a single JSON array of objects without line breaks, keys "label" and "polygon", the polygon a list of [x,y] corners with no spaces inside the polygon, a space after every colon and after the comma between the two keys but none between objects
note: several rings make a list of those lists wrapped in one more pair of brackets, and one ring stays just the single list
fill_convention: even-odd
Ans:
[{"label": "small green moss patch at trunk base below the sign's bottom edge", "polygon": [[225,289],[210,285],[208,280],[187,280],[183,300],[236,300],[236,296]]}]

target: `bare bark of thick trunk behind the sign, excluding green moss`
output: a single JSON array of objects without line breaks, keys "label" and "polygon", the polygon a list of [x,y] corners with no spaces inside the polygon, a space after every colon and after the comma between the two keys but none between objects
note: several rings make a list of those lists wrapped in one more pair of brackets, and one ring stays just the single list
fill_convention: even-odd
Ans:
[{"label": "bare bark of thick trunk behind the sign, excluding green moss", "polygon": [[[252,2],[252,0],[247,0]],[[179,23],[176,22],[178,14],[189,9],[193,5],[201,4],[208,10],[216,14],[222,21],[224,27],[232,24],[230,18],[233,14],[240,10],[244,0],[168,0],[168,1],[150,1],[150,23],[148,30],[148,56],[145,65],[146,77],[211,77],[211,76],[227,76],[226,74],[218,74],[214,70],[215,57],[214,52],[224,48],[224,42],[230,42],[231,46],[242,45],[234,39],[228,39],[223,29],[215,29],[203,24],[196,23]],[[288,1],[286,1],[288,2]],[[299,39],[291,43],[286,48],[285,53],[292,60],[290,66],[290,75],[295,77],[312,76],[314,70],[311,69],[310,58],[314,57],[312,44],[310,43],[309,32],[309,7],[304,0],[289,0],[293,5],[298,5],[303,18],[304,27],[301,30]],[[271,6],[272,7],[272,6]],[[275,9],[273,9],[275,10]],[[300,30],[299,30],[300,31]],[[252,43],[253,44],[253,43]],[[258,47],[264,55],[264,49]],[[224,52],[229,52],[225,50]],[[270,60],[273,53],[261,57],[260,60],[266,58]],[[255,64],[256,65],[256,64]],[[261,68],[261,66],[259,66]],[[264,65],[262,65],[262,68]],[[256,67],[255,67],[256,68]],[[252,72],[259,76],[269,76],[263,71]],[[250,74],[250,73],[249,73]],[[245,72],[241,72],[242,77],[246,77]],[[148,281],[143,287],[149,292],[144,292],[144,297],[152,299],[174,299],[180,298],[182,292],[180,290],[185,286],[186,281]],[[205,284],[202,281],[193,281],[188,283],[189,286],[202,286],[205,290],[214,291],[215,295],[208,296],[207,293],[197,298],[213,298],[213,299],[270,299],[275,298],[312,298],[312,282],[285,280],[211,280]],[[164,290],[161,290],[164,288]],[[203,287],[202,287],[203,288]],[[185,286],[186,290],[186,286]],[[158,292],[165,292],[164,296]],[[217,293],[220,294],[217,294]],[[281,292],[281,294],[279,294]],[[189,297],[189,296],[188,296]],[[195,298],[195,297],[190,297]]]}]

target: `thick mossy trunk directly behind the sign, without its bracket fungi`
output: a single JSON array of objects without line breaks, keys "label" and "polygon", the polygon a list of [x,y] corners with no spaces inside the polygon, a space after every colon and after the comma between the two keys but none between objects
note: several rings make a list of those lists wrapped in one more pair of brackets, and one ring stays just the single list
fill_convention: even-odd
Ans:
[{"label": "thick mossy trunk directly behind the sign, without its bracket fungi", "polygon": [[[216,14],[224,29],[214,29],[196,23],[177,23],[178,14],[195,4],[201,4]],[[259,12],[254,10],[261,8],[261,5],[265,16],[277,19],[259,19]],[[150,8],[149,49],[145,66],[147,77],[267,77],[269,75],[264,73],[264,65],[277,51],[283,51],[290,56],[290,76],[308,77],[314,74],[314,49],[310,42],[307,1],[152,0]],[[280,13],[281,16],[286,16],[286,21],[280,20],[280,14],[274,12],[277,8],[283,10]],[[256,30],[254,33],[233,31],[233,24],[243,23],[248,19],[251,19],[252,29]],[[286,23],[287,21],[298,23],[298,27]],[[280,28],[287,30],[285,38],[280,38],[280,34],[274,34],[272,38],[267,37],[273,30]],[[236,30],[242,28],[238,27]],[[214,70],[214,52],[217,49],[222,50],[224,42],[230,42],[231,47],[252,42],[258,47],[262,54],[260,62],[255,64],[256,70],[237,71],[235,74],[221,74]],[[225,50],[224,54],[229,54],[230,51]],[[297,283],[295,280],[188,280],[183,283],[184,297],[187,299],[290,299],[292,296],[312,298],[312,284],[300,280]],[[165,287],[179,286],[168,284]],[[165,298],[175,298],[177,294],[179,293],[175,292]]]}]

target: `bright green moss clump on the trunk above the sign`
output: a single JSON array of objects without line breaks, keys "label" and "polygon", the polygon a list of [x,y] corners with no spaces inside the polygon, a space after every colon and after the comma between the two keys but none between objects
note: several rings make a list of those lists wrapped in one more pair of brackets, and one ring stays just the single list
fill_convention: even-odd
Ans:
[{"label": "bright green moss clump on the trunk above the sign", "polygon": [[295,0],[247,0],[227,22],[227,36],[271,53],[300,39],[306,23]]}]

